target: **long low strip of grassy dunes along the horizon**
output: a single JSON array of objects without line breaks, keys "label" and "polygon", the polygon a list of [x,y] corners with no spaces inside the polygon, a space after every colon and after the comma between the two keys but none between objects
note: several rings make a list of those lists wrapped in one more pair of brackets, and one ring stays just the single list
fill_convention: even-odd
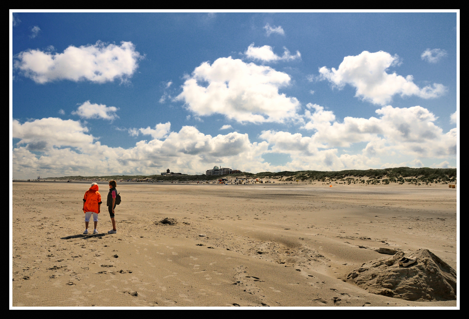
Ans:
[{"label": "long low strip of grassy dunes along the horizon", "polygon": [[213,181],[219,178],[227,177],[235,178],[272,178],[280,181],[321,181],[335,183],[366,183],[366,184],[389,184],[390,182],[403,184],[404,182],[413,184],[423,183],[448,183],[456,182],[455,168],[410,168],[410,167],[394,167],[384,169],[367,169],[367,170],[344,170],[344,171],[283,171],[283,172],[260,172],[252,174],[243,172],[230,175],[110,175],[110,176],[64,176],[49,177],[46,180],[74,180],[74,181],[91,181],[91,180],[123,180],[123,181]]}]

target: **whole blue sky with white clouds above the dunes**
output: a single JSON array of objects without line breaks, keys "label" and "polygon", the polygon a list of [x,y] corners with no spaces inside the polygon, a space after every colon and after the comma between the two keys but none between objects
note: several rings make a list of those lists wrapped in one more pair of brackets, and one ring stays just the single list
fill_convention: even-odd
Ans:
[{"label": "whole blue sky with white clouds above the dunes", "polygon": [[456,13],[10,11],[16,179],[456,167]]}]

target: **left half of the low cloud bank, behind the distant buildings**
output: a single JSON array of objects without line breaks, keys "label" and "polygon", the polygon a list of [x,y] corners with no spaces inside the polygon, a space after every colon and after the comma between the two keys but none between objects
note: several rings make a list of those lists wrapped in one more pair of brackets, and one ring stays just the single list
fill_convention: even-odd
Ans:
[{"label": "left half of the low cloud bank, behind the distant buildings", "polygon": [[[44,176],[96,174],[159,174],[175,167],[181,172],[204,172],[214,163],[243,170],[262,171],[260,154],[267,143],[251,143],[247,134],[205,135],[195,127],[183,126],[169,132],[170,123],[158,124],[154,134],[166,138],[139,141],[123,149],[101,145],[82,123],[59,118],[43,118],[23,124],[13,122],[13,137],[19,138],[13,150],[15,178],[30,178],[38,170]],[[140,131],[140,129],[138,129]],[[36,154],[40,152],[41,154]]]}]

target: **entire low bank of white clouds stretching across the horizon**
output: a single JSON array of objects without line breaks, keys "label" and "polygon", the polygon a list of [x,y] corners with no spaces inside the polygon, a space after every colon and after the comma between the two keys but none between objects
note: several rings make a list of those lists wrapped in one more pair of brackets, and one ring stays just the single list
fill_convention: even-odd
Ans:
[{"label": "entire low bank of white clouds stretching across the horizon", "polygon": [[[377,110],[369,119],[346,117],[339,123],[333,112],[308,104],[305,126],[311,136],[266,130],[264,141],[250,142],[248,134],[231,132],[205,135],[193,126],[170,131],[171,123],[154,128],[134,128],[129,134],[151,136],[134,147],[109,147],[89,134],[83,123],[60,118],[43,118],[23,124],[13,121],[15,178],[67,175],[159,174],[167,167],[182,173],[204,172],[215,164],[248,172],[295,170],[342,170],[377,167],[451,167],[455,158],[456,129],[443,133],[427,109],[393,108]],[[338,151],[354,143],[366,143],[360,151]],[[262,154],[289,154],[285,165],[265,163]],[[440,159],[440,160],[436,160]],[[397,164],[396,164],[397,163]]]}]

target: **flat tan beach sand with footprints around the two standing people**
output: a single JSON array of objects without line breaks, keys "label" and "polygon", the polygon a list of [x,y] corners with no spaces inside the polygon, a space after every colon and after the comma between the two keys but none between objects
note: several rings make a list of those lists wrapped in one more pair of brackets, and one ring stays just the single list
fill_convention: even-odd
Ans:
[{"label": "flat tan beach sand with footprints around the two standing people", "polygon": [[428,249],[456,269],[446,184],[123,182],[117,233],[104,204],[85,236],[90,184],[13,182],[13,306],[456,306],[345,281],[389,257],[380,247]]}]

